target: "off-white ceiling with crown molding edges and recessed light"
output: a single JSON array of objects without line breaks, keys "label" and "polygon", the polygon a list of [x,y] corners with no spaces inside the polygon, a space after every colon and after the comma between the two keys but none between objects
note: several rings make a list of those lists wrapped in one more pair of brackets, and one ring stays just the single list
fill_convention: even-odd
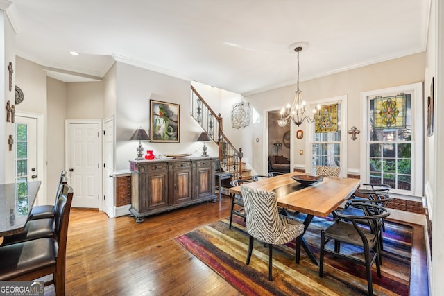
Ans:
[{"label": "off-white ceiling with crown molding edges and recessed light", "polygon": [[[243,94],[425,51],[430,0],[10,0],[16,54],[65,82],[114,61]],[[69,55],[77,51],[79,56]]]}]

